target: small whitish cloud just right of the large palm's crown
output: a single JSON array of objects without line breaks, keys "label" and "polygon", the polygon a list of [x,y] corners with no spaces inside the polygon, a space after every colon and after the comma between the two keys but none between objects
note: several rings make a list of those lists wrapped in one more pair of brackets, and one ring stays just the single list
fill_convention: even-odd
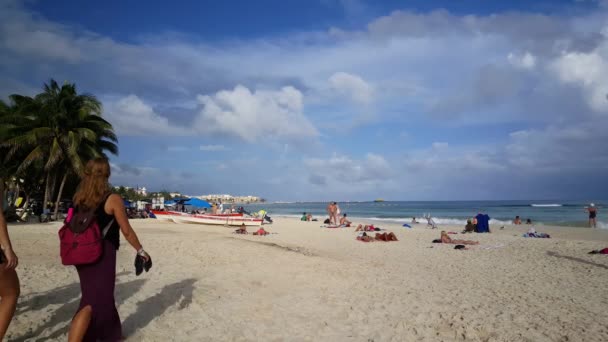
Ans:
[{"label": "small whitish cloud just right of the large palm's crown", "polygon": [[190,135],[186,128],[172,125],[167,117],[154,111],[136,95],[105,103],[104,115],[118,134],[137,135]]}]

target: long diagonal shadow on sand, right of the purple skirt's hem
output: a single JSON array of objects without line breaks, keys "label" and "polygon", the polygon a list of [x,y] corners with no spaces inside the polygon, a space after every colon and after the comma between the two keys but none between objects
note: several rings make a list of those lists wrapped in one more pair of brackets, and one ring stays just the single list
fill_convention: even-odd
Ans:
[{"label": "long diagonal shadow on sand, right of the purple skirt's hem", "polygon": [[123,334],[125,336],[133,335],[156,317],[161,316],[175,303],[179,303],[178,310],[187,308],[192,303],[194,283],[196,283],[196,279],[184,279],[163,287],[159,293],[137,303],[137,311],[122,323]]}]

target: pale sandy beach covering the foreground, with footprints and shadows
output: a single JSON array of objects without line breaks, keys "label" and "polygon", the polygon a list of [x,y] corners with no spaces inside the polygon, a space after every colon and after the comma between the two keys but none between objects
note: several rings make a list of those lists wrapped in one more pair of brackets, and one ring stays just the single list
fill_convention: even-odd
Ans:
[{"label": "pale sandy beach covering the foreground, with footprints and shadows", "polygon": [[[279,218],[270,236],[133,220],[154,267],[135,276],[118,253],[116,300],[129,341],[608,341],[608,232],[527,227],[453,235],[383,224],[398,242],[354,228]],[[66,340],[79,301],[60,264],[59,224],[14,225],[22,297],[10,341]],[[460,231],[460,227],[441,227]],[[487,246],[499,246],[484,249]],[[503,247],[500,247],[503,246]]]}]

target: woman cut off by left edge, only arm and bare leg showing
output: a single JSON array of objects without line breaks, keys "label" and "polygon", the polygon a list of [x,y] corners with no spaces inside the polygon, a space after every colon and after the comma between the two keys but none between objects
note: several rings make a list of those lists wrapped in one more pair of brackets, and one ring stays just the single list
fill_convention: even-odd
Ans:
[{"label": "woman cut off by left edge, only arm and bare leg showing", "polygon": [[[0,194],[2,196],[2,194]],[[19,298],[19,277],[15,268],[19,259],[13,252],[13,246],[8,236],[6,220],[0,207],[0,341],[4,338],[6,330],[15,314],[17,298]]]}]

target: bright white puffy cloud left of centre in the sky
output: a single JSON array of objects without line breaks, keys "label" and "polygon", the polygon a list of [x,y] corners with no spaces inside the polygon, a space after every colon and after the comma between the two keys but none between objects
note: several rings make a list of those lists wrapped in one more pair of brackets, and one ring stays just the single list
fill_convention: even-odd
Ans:
[{"label": "bright white puffy cloud left of centre in the sky", "polygon": [[303,95],[294,87],[279,91],[237,86],[198,96],[201,110],[194,127],[202,133],[230,134],[247,142],[263,138],[314,138],[317,129],[303,114]]}]

